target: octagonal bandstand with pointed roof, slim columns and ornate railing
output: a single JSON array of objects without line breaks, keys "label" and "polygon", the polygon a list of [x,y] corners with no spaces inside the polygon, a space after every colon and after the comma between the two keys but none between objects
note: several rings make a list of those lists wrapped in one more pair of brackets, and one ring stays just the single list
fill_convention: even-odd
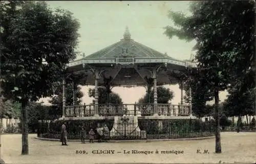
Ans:
[{"label": "octagonal bandstand with pointed roof, slim columns and ornate railing", "polygon": [[[151,136],[152,132],[148,130],[153,128],[166,131],[167,126],[170,137],[172,121],[182,121],[180,125],[185,122],[190,124],[191,120],[196,119],[191,111],[191,89],[189,87],[187,87],[189,88],[189,103],[184,104],[183,101],[183,88],[186,85],[186,79],[189,78],[186,69],[188,66],[195,67],[196,64],[188,60],[174,59],[166,53],[157,52],[136,42],[131,38],[129,29],[126,27],[120,41],[89,56],[83,55],[81,59],[67,65],[66,75],[63,78],[62,118],[59,121],[77,121],[79,126],[89,127],[87,131],[99,124],[107,124],[110,137],[122,139],[154,138]],[[73,84],[73,106],[65,104],[67,83]],[[181,89],[179,104],[158,104],[157,86],[166,84],[179,84]],[[77,85],[95,86],[93,104],[78,105],[76,103]],[[147,92],[153,89],[154,102],[99,104],[98,87],[105,87],[110,94],[111,89],[116,86],[144,86]],[[152,127],[153,122],[154,127]]]}]

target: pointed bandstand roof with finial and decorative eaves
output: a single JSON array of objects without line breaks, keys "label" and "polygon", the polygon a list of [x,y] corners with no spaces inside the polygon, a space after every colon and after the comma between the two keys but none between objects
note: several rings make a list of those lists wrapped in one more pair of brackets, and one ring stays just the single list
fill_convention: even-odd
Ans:
[{"label": "pointed bandstand roof with finial and decorative eaves", "polygon": [[111,79],[112,86],[146,85],[152,77],[152,70],[158,71],[158,85],[175,84],[187,66],[196,64],[178,60],[160,53],[131,38],[126,27],[123,38],[91,55],[83,56],[67,65],[67,74],[76,77],[82,84],[94,85],[94,70],[101,74],[99,85]]}]

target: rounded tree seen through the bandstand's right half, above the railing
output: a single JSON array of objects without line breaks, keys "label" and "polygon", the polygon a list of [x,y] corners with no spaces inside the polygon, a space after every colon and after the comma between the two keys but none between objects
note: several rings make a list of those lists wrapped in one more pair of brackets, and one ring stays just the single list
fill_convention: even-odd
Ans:
[{"label": "rounded tree seen through the bandstand's right half, above the railing", "polygon": [[[159,104],[168,104],[170,100],[174,98],[174,92],[169,88],[165,88],[163,86],[157,87],[157,103]],[[154,102],[154,92],[150,92],[150,96],[146,93],[142,98],[138,101],[141,104],[153,103]]]}]

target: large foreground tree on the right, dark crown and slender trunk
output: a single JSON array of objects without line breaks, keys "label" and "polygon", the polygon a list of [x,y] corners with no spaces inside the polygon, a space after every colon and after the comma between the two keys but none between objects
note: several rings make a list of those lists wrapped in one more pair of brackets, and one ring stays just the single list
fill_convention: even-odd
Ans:
[{"label": "large foreground tree on the right, dark crown and slender trunk", "polygon": [[191,3],[190,11],[190,16],[170,11],[176,27],[166,27],[165,34],[197,42],[199,82],[214,92],[216,153],[221,153],[219,91],[230,82],[246,88],[242,81],[252,72],[254,55],[254,2],[197,1]]}]

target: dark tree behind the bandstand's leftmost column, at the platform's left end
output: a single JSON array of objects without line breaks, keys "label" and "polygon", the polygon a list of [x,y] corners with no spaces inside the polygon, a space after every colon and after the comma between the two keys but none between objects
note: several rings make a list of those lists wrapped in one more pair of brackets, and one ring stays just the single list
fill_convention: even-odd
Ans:
[{"label": "dark tree behind the bandstand's leftmost column, at the platform's left end", "polygon": [[[81,92],[81,87],[77,86],[76,89],[76,103],[80,105],[82,102],[83,93]],[[56,85],[54,90],[55,95],[51,97],[49,103],[52,104],[52,108],[49,110],[49,114],[52,115],[53,119],[59,118],[62,115],[62,85]],[[66,85],[66,105],[72,106],[73,105],[73,85],[67,84]]]}]

